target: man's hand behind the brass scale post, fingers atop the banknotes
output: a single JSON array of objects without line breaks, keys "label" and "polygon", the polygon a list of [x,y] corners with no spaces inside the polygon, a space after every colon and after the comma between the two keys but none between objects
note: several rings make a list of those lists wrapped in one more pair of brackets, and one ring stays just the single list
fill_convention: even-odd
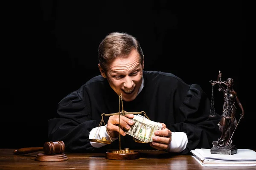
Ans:
[{"label": "man's hand behind the brass scale post, fingers atop the banknotes", "polygon": [[[134,121],[131,120],[132,118],[134,118],[133,114],[120,116],[120,134],[122,136],[126,135],[126,133],[122,129],[124,127],[125,129],[130,129],[131,125],[134,124]],[[119,136],[119,115],[113,115],[109,117],[107,130],[111,138],[116,138],[117,136]]]}]

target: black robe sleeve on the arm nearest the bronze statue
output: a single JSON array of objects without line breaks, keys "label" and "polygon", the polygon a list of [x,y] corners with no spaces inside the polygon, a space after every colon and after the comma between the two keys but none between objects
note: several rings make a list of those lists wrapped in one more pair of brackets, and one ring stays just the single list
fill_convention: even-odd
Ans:
[{"label": "black robe sleeve on the arm nearest the bronze statue", "polygon": [[212,141],[220,136],[217,125],[220,116],[216,113],[215,118],[209,118],[211,103],[199,85],[189,85],[188,90],[181,91],[175,95],[176,123],[170,125],[171,131],[184,132],[188,138],[186,149],[179,154],[191,154],[190,150],[195,148],[211,148]]}]

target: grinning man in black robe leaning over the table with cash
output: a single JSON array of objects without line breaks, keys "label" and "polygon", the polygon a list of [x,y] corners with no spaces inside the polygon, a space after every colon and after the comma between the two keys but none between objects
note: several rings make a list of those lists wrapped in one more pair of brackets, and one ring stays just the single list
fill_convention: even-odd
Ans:
[{"label": "grinning man in black robe leaning over the table with cash", "polygon": [[[125,111],[144,111],[151,120],[163,125],[162,130],[154,133],[153,142],[137,143],[122,130],[131,128],[134,115],[120,116],[122,148],[190,154],[195,148],[212,147],[219,135],[219,119],[209,119],[210,102],[199,85],[187,85],[170,73],[144,71],[140,43],[129,34],[111,33],[105,37],[99,44],[98,58],[101,75],[59,102],[57,117],[48,122],[50,141],[62,140],[68,152],[119,148],[118,115],[105,116],[108,123],[97,130],[102,113],[119,112],[122,94]],[[94,136],[105,136],[113,142],[90,142]]]}]

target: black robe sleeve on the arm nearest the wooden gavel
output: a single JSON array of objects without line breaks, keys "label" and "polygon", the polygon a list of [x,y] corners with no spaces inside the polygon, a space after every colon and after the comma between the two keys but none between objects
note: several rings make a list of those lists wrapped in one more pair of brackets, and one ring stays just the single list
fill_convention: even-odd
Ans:
[{"label": "black robe sleeve on the arm nearest the wooden gavel", "polygon": [[48,139],[53,142],[63,141],[67,152],[95,151],[89,135],[98,122],[91,120],[86,96],[83,91],[67,95],[58,103],[57,116],[48,121]]}]

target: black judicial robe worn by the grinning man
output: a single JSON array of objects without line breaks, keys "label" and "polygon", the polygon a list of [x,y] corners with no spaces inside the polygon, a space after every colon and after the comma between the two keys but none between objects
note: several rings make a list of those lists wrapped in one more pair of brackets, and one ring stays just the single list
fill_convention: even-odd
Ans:
[{"label": "black judicial robe worn by the grinning man", "polygon": [[[211,148],[212,141],[221,135],[217,125],[220,116],[209,119],[210,101],[201,87],[188,85],[170,73],[143,71],[143,78],[143,90],[133,101],[123,101],[124,110],[144,111],[149,119],[165,123],[172,132],[186,133],[186,149],[174,154]],[[96,76],[58,103],[57,116],[48,121],[49,141],[63,141],[67,152],[119,150],[119,139],[101,148],[92,147],[89,141],[89,133],[99,126],[101,114],[116,112],[119,112],[119,96],[107,79]],[[108,118],[104,116],[105,124]],[[134,142],[130,135],[121,136],[121,149],[124,148],[155,150],[149,144]]]}]

